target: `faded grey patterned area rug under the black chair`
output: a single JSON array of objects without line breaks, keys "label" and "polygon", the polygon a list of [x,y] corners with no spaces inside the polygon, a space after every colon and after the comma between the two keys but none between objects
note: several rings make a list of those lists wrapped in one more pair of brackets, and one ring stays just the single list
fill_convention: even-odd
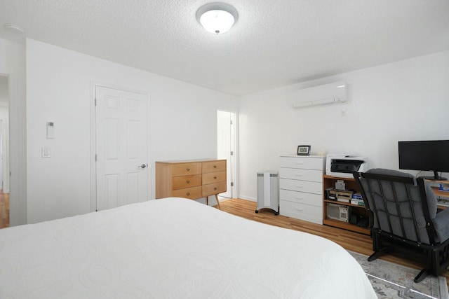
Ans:
[{"label": "faded grey patterned area rug under the black chair", "polygon": [[445,277],[427,275],[419,284],[413,279],[420,272],[386,260],[368,262],[368,256],[349,251],[363,267],[378,298],[441,298],[449,299]]}]

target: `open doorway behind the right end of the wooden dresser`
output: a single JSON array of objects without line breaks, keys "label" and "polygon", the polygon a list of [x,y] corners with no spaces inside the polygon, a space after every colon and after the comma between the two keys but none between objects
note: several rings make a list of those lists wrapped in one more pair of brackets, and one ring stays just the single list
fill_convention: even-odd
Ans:
[{"label": "open doorway behind the right end of the wooden dresser", "polygon": [[227,160],[227,188],[220,197],[236,196],[236,113],[217,110],[217,159]]}]

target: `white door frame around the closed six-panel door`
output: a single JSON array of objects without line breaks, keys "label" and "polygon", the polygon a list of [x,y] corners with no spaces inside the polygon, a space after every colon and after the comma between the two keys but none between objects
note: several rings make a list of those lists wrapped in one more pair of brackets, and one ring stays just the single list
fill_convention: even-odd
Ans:
[{"label": "white door frame around the closed six-panel door", "polygon": [[[147,161],[150,161],[150,155],[149,155],[149,92],[145,90],[137,90],[135,88],[128,88],[123,87],[120,85],[115,84],[109,84],[109,83],[101,83],[98,81],[91,81],[91,211],[97,211],[97,169],[95,166],[95,154],[97,152],[96,148],[96,113],[95,113],[95,88],[104,87],[104,88],[112,88],[116,90],[123,90],[127,92],[135,92],[140,93],[142,95],[146,95],[148,98],[148,111],[147,111]],[[151,167],[148,167],[151,169]],[[150,197],[150,190],[151,190],[151,173],[148,171],[148,178],[147,178],[147,200],[149,200]]]}]

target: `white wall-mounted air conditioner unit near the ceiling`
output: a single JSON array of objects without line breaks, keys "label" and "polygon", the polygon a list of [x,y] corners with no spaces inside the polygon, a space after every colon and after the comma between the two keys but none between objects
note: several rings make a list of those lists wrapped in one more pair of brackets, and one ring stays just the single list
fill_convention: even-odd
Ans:
[{"label": "white wall-mounted air conditioner unit near the ceiling", "polygon": [[344,103],[348,100],[347,83],[335,82],[294,90],[289,97],[293,108]]}]

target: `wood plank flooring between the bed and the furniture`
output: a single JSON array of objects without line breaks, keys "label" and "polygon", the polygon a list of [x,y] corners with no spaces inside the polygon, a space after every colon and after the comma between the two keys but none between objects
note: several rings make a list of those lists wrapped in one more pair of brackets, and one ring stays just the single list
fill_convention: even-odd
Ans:
[{"label": "wood plank flooring between the bed and the furniture", "polygon": [[[259,213],[255,213],[257,202],[249,200],[231,199],[220,201],[222,211],[227,211],[230,214],[241,216],[253,221],[258,221],[270,225],[280,226],[281,228],[290,228],[292,230],[299,230],[301,232],[309,232],[313,235],[319,235],[330,239],[331,241],[340,244],[344,249],[358,252],[370,256],[373,253],[373,242],[370,236],[363,235],[358,232],[351,232],[349,230],[342,230],[341,228],[333,228],[328,225],[319,225],[307,221],[297,220],[287,216],[274,215],[270,209],[261,209]],[[409,260],[403,256],[382,256],[382,260],[388,260],[391,263],[404,265],[417,270],[421,270],[424,264],[414,260]],[[443,273],[446,277],[449,287],[449,271]]]}]

